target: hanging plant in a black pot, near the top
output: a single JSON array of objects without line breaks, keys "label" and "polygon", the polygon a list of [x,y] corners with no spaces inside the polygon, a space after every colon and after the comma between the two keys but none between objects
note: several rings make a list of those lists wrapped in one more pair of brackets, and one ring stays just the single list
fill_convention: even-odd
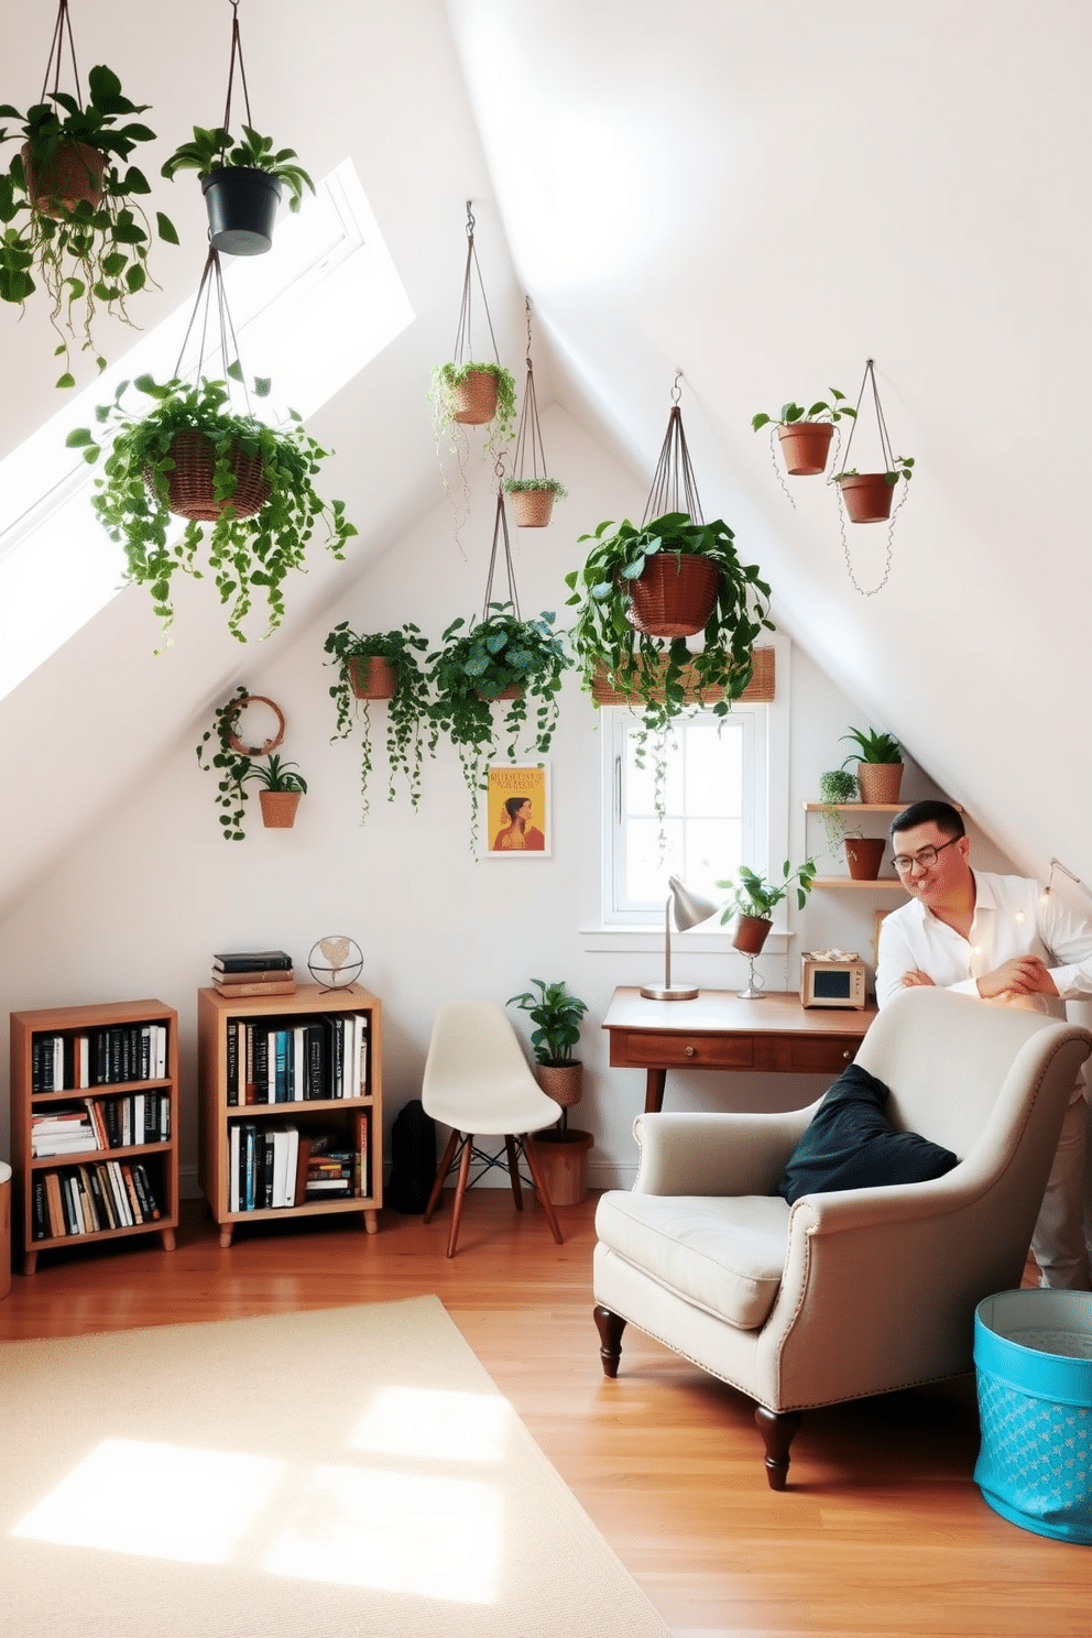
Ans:
[{"label": "hanging plant in a black pot, near the top", "polygon": [[210,131],[195,124],[193,139],[174,151],[160,175],[174,180],[178,170],[196,170],[210,239],[229,256],[262,256],[273,242],[282,193],[288,193],[291,211],[300,210],[305,188],[314,193],[295,147],[275,149],[272,136],[249,124],[236,138],[224,126]]}]

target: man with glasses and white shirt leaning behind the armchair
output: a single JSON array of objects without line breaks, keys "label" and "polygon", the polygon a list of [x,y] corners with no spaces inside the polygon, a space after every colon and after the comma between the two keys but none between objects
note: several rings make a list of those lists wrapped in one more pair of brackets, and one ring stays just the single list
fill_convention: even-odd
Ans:
[{"label": "man with glasses and white shirt leaning behind the armchair", "polygon": [[[1092,922],[1025,876],[971,870],[971,842],[951,803],[912,803],[891,826],[896,870],[910,903],[879,929],[876,1001],[943,984],[995,1004],[1066,1016],[1092,998]],[[1041,1284],[1092,1289],[1092,1206],[1085,1228],[1084,1079],[1063,1122],[1031,1250]]]}]

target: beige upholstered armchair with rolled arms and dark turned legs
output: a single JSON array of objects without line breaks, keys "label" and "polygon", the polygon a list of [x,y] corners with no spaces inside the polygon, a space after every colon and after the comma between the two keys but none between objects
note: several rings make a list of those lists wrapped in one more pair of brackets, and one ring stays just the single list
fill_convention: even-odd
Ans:
[{"label": "beige upholstered armchair with rolled arms and dark turned legs", "polygon": [[856,1055],[894,1127],[959,1156],[932,1183],[776,1194],[819,1104],[645,1114],[640,1171],[596,1214],[596,1324],[617,1374],[627,1322],[758,1400],[784,1489],[801,1410],[958,1376],[974,1307],[1020,1284],[1085,1029],[909,989]]}]

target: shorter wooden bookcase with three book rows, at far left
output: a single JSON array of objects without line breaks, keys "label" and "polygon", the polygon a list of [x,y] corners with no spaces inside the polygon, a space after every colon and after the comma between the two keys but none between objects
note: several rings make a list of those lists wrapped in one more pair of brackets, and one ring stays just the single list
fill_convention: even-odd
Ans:
[{"label": "shorter wooden bookcase with three book rows, at far left", "polygon": [[[70,1048],[80,1037],[88,1038],[88,1058],[93,1070],[93,1043],[100,1032],[128,1034],[142,1025],[159,1024],[165,1029],[165,1075],[144,1075],[138,1079],[110,1079],[93,1086],[67,1086],[64,1091],[34,1091],[34,1038],[56,1038]],[[118,1035],[118,1038],[120,1038]],[[67,1055],[67,1053],[62,1053]],[[118,1063],[121,1060],[118,1058]],[[115,1063],[115,1070],[118,1068]],[[156,1065],[151,1066],[152,1070]],[[69,1078],[69,1076],[65,1076]],[[79,1079],[79,1075],[75,1076]],[[75,1155],[33,1153],[31,1115],[47,1115],[65,1106],[79,1106],[92,1099],[100,1111],[113,1099],[129,1099],[144,1093],[159,1093],[167,1099],[169,1135],[154,1143],[128,1143],[111,1148],[80,1150]],[[131,1133],[134,1135],[134,1133]],[[134,1235],[157,1233],[165,1251],[175,1248],[178,1227],[178,1016],[162,1001],[118,1001],[85,1007],[41,1007],[34,1012],[11,1014],[11,1160],[15,1171],[15,1222],[23,1248],[23,1273],[33,1274],[41,1251],[59,1247],[88,1245],[93,1240],[126,1240]],[[116,1161],[128,1166],[142,1165],[151,1183],[159,1217],[134,1222],[128,1227],[92,1228],[72,1233],[51,1232],[46,1215],[46,1233],[36,1238],[34,1183],[44,1186],[49,1173],[90,1179],[92,1168],[105,1186],[100,1168]],[[102,1207],[100,1207],[102,1212]],[[121,1215],[116,1212],[115,1215]],[[133,1212],[136,1215],[136,1212]]]}]

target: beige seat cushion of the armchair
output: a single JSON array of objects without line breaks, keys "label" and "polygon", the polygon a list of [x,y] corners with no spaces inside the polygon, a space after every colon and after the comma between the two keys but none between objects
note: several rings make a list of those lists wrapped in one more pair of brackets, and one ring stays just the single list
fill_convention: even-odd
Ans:
[{"label": "beige seat cushion of the armchair", "polygon": [[789,1207],[771,1194],[663,1196],[611,1191],[599,1240],[660,1286],[738,1330],[763,1325],[778,1296]]}]

